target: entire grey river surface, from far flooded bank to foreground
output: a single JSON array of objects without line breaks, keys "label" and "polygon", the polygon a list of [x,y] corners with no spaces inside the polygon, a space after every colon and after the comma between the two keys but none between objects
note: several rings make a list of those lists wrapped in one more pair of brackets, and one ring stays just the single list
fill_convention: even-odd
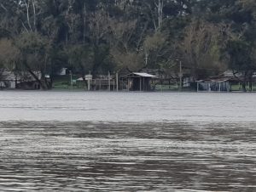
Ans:
[{"label": "entire grey river surface, from far flooded bank to foreground", "polygon": [[256,191],[256,94],[0,92],[0,191]]}]

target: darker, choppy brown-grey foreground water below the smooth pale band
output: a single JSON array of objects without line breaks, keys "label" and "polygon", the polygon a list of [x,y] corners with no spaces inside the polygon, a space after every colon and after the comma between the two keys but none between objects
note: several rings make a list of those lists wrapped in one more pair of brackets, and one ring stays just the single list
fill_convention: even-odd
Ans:
[{"label": "darker, choppy brown-grey foreground water below the smooth pale band", "polygon": [[0,122],[3,191],[255,191],[256,123]]}]

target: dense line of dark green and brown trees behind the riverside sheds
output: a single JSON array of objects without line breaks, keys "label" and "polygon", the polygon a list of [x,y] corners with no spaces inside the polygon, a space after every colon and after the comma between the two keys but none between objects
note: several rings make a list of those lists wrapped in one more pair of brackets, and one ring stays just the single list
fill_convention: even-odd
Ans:
[{"label": "dense line of dark green and brown trees behind the riverside sheds", "polygon": [[245,87],[256,70],[256,0],[0,0],[1,69],[48,74],[43,88],[64,66],[171,76],[177,60],[195,80],[230,69]]}]

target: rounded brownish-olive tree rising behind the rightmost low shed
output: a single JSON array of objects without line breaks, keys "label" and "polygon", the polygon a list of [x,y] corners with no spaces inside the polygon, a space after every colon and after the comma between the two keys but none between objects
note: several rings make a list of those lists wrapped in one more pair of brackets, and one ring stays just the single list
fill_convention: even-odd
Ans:
[{"label": "rounded brownish-olive tree rising behind the rightmost low shed", "polygon": [[180,45],[183,65],[188,67],[195,80],[224,72],[220,50],[224,37],[221,25],[213,25],[204,20],[194,20],[187,28]]}]

